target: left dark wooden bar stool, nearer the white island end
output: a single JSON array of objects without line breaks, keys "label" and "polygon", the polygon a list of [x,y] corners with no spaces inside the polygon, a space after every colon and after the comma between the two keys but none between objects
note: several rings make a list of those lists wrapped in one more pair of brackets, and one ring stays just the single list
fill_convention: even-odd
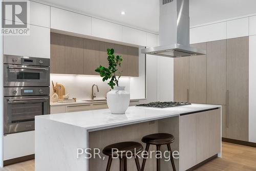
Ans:
[{"label": "left dark wooden bar stool, nearer the white island end", "polygon": [[[112,149],[118,149],[114,151],[112,154]],[[106,156],[109,156],[108,165],[106,166],[106,171],[110,171],[111,163],[112,163],[112,156],[118,157],[120,160],[120,171],[127,171],[127,157],[134,157],[135,164],[138,171],[141,171],[139,159],[135,157],[135,154],[139,154],[143,151],[143,146],[138,142],[119,142],[115,144],[111,144],[106,146],[102,153]],[[127,153],[126,152],[130,152]],[[117,154],[116,154],[117,153]]]}]

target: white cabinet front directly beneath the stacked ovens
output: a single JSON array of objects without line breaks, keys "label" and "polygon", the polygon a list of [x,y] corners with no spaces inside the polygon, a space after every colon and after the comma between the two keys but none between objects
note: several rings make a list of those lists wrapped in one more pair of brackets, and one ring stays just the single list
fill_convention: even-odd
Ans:
[{"label": "white cabinet front directly beneath the stacked ovens", "polygon": [[35,131],[4,135],[4,160],[35,154]]}]

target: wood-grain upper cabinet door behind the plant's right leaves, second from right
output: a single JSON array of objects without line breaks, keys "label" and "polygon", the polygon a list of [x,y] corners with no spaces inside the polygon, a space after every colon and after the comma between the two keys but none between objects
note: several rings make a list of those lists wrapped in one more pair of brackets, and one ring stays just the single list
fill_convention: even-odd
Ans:
[{"label": "wood-grain upper cabinet door behind the plant's right leaves, second from right", "polygon": [[123,45],[114,45],[115,47],[115,55],[121,55],[123,58],[121,67],[119,69],[119,72],[122,71],[122,76],[128,76],[128,72],[127,72],[127,47],[123,46]]}]

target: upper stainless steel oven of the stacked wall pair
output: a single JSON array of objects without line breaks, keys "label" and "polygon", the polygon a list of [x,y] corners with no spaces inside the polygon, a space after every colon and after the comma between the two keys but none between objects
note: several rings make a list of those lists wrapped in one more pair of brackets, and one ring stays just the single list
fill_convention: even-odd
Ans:
[{"label": "upper stainless steel oven of the stacked wall pair", "polygon": [[49,87],[50,59],[4,55],[4,87]]}]

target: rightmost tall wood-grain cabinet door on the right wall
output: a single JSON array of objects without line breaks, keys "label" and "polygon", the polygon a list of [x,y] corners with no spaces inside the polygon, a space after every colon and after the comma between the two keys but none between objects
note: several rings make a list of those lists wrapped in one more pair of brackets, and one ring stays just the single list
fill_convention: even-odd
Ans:
[{"label": "rightmost tall wood-grain cabinet door on the right wall", "polygon": [[248,141],[249,37],[227,40],[227,138]]}]

